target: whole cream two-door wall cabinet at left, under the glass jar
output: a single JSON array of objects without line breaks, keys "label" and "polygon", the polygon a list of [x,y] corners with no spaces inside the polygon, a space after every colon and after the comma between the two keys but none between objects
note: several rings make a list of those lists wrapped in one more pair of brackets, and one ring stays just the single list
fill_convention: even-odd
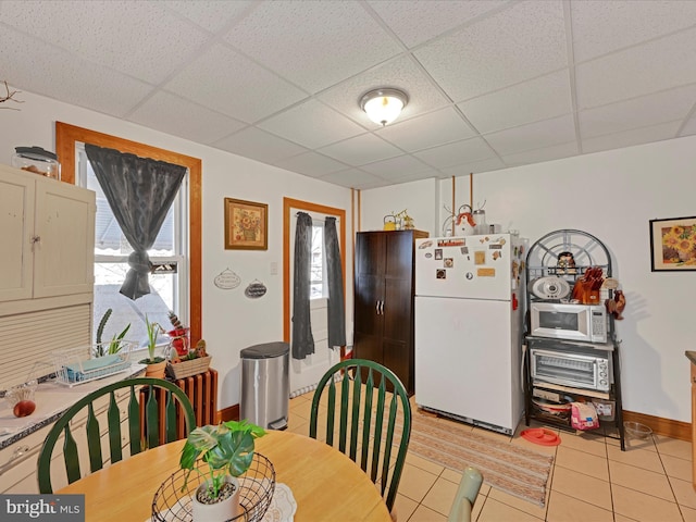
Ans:
[{"label": "whole cream two-door wall cabinet at left, under the glass jar", "polygon": [[95,192],[0,165],[0,303],[32,299],[36,310],[37,299],[75,295],[91,302]]}]

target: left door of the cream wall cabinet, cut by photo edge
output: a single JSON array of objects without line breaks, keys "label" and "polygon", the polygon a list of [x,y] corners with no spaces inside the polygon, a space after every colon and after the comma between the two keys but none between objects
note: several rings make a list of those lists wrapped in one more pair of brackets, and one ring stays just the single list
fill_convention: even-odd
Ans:
[{"label": "left door of the cream wall cabinet, cut by photo edge", "polygon": [[0,301],[32,297],[35,181],[0,170]]}]

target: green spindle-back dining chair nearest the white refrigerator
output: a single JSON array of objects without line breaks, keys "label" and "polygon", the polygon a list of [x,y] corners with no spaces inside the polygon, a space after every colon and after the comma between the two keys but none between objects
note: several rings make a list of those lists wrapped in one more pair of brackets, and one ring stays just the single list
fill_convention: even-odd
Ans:
[{"label": "green spindle-back dining chair nearest the white refrigerator", "polygon": [[[323,433],[318,431],[320,420],[322,426],[325,421]],[[347,359],[334,364],[312,398],[309,436],[318,435],[380,485],[393,511],[411,437],[411,405],[399,377],[374,361]]]}]

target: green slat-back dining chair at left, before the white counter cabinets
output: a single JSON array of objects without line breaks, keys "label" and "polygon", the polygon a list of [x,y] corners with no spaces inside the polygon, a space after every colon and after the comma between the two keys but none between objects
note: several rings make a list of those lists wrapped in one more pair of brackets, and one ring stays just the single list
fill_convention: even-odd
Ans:
[{"label": "green slat-back dining chair at left, before the white counter cabinets", "polygon": [[[181,438],[182,422],[185,434],[196,427],[194,407],[183,389],[163,378],[127,378],[91,391],[55,421],[44,440],[37,462],[39,492],[53,493],[52,463],[62,461],[61,472],[72,484],[123,460],[124,450],[125,457],[133,456]],[[53,455],[60,438],[62,457]]]}]

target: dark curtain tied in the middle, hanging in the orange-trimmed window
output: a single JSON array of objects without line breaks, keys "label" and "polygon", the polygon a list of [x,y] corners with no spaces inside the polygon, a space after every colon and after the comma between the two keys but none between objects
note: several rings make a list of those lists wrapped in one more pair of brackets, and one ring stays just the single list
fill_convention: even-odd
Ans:
[{"label": "dark curtain tied in the middle, hanging in the orange-trimmed window", "polygon": [[178,192],[186,167],[85,144],[85,152],[107,201],[134,251],[121,294],[137,299],[150,293],[148,250]]}]

